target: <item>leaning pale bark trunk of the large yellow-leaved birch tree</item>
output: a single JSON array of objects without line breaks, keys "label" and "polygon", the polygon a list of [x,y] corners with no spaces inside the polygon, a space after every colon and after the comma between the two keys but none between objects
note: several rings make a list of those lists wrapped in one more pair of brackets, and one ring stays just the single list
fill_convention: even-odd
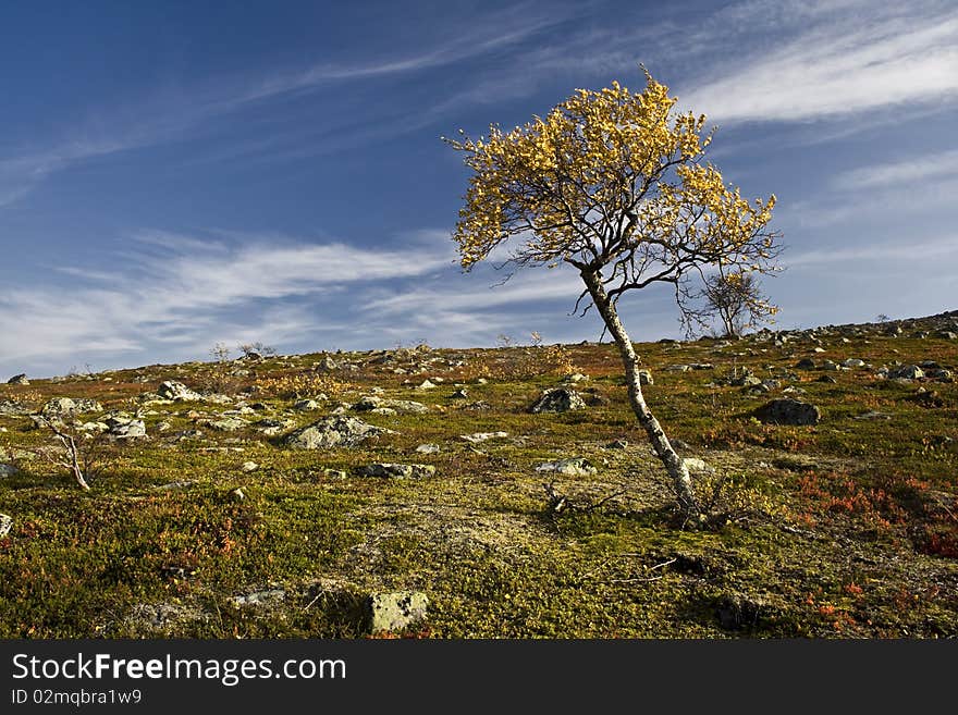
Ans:
[{"label": "leaning pale bark trunk of the large yellow-leaved birch tree", "polygon": [[581,271],[580,274],[582,281],[586,283],[586,287],[589,289],[592,303],[595,305],[599,315],[601,315],[602,320],[605,321],[605,326],[609,329],[610,334],[613,340],[615,340],[615,344],[618,346],[622,362],[625,367],[629,404],[631,405],[632,411],[636,414],[639,424],[646,430],[646,434],[649,435],[649,441],[652,443],[655,454],[662,460],[662,464],[665,465],[665,469],[672,479],[672,489],[678,500],[681,513],[686,517],[698,518],[699,506],[696,503],[695,493],[692,492],[692,482],[689,477],[688,468],[685,466],[681,457],[679,457],[672,447],[668,437],[665,436],[665,432],[662,430],[662,426],[659,423],[659,420],[655,419],[655,416],[652,415],[652,410],[649,409],[649,406],[646,404],[646,398],[642,396],[642,387],[639,378],[639,357],[636,355],[631,340],[629,338],[625,326],[622,324],[622,321],[618,319],[615,306],[605,293],[605,286],[602,285],[602,279],[599,273]]}]

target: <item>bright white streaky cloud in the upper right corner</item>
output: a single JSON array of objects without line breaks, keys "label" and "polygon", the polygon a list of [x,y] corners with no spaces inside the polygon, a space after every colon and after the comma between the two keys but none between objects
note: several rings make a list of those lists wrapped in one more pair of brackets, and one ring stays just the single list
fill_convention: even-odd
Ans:
[{"label": "bright white streaky cloud in the upper right corner", "polygon": [[683,103],[728,124],[832,119],[958,99],[954,4],[839,3],[828,10],[779,47],[762,47],[736,66],[720,60],[715,74],[688,83]]}]

